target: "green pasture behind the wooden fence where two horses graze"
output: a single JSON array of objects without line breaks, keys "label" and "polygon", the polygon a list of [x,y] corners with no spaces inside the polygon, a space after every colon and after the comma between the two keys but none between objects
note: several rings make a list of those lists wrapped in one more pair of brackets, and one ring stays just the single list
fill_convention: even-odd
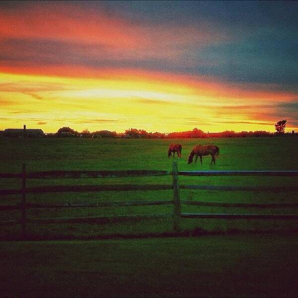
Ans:
[{"label": "green pasture behind the wooden fence where two horses graze", "polygon": [[[27,171],[41,170],[171,170],[172,160],[167,157],[169,143],[183,146],[179,170],[297,170],[298,140],[284,138],[235,138],[235,139],[0,139],[0,172],[18,173],[25,162]],[[189,152],[195,144],[213,143],[220,147],[216,165],[210,165],[211,156],[203,157],[203,165],[187,164]],[[28,180],[28,186],[84,185],[84,184],[171,184],[171,176],[98,178],[98,179],[47,179]],[[180,185],[235,185],[235,186],[295,186],[297,178],[291,177],[179,177]],[[18,188],[20,179],[1,179],[0,188]],[[205,191],[181,190],[181,199],[211,202],[297,202],[295,191]],[[82,203],[112,201],[170,200],[171,190],[50,193],[28,195],[30,203]],[[16,204],[19,195],[2,196],[1,204]],[[172,213],[173,206],[52,208],[30,209],[28,218],[91,217],[132,214]],[[182,206],[182,212],[202,213],[258,213],[297,214],[297,209],[256,209]],[[19,211],[0,212],[1,220],[20,218]],[[233,230],[297,230],[295,221],[272,220],[183,220],[181,230],[190,234],[201,231]],[[19,226],[0,227],[2,238],[18,237]],[[92,238],[108,235],[148,235],[172,231],[171,219],[155,219],[135,223],[112,224],[29,224],[28,235],[36,238]]]}]

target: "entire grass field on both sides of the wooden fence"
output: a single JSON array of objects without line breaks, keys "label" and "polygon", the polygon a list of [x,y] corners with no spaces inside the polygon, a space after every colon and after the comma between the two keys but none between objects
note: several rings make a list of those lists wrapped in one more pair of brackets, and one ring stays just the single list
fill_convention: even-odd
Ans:
[{"label": "entire grass field on both sides of the wooden fence", "polygon": [[[0,139],[0,172],[27,170],[171,170],[169,142],[183,145],[179,170],[297,170],[298,140],[244,138],[213,140]],[[195,144],[220,147],[216,165],[187,164]],[[99,179],[28,180],[28,186],[74,184],[171,184],[171,176]],[[180,185],[296,186],[291,177],[179,177]],[[19,188],[19,179],[1,179],[0,189]],[[218,202],[297,202],[288,192],[181,190],[181,199]],[[172,191],[50,193],[28,195],[34,203],[169,200]],[[16,204],[20,196],[2,196]],[[31,209],[28,217],[80,217],[172,213],[172,206]],[[183,212],[281,213],[297,209],[182,206]],[[20,218],[19,211],[0,212],[0,220]],[[262,220],[183,220],[189,237],[9,241],[20,226],[0,226],[0,296],[2,297],[297,297],[297,222]],[[270,234],[202,232],[274,231]],[[118,224],[29,224],[32,238],[149,236],[172,231],[171,219]],[[193,237],[200,235],[199,237]]]}]

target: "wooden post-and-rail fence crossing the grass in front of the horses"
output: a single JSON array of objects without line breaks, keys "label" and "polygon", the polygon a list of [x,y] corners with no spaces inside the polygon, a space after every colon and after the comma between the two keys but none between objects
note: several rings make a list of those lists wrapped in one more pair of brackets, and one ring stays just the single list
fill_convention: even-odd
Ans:
[{"label": "wooden post-and-rail fence crossing the grass in front of the horses", "polygon": [[[172,185],[164,184],[114,184],[114,185],[58,185],[27,187],[27,179],[48,178],[115,178],[115,177],[140,177],[140,176],[165,176],[172,175]],[[26,238],[27,224],[54,224],[54,223],[113,223],[129,220],[143,220],[159,217],[170,217],[173,220],[173,230],[178,231],[181,219],[264,219],[264,220],[298,220],[298,214],[203,214],[181,213],[181,204],[193,206],[213,207],[256,207],[256,208],[295,208],[298,202],[282,203],[223,203],[223,202],[200,202],[180,200],[180,189],[193,190],[217,190],[217,191],[297,191],[298,187],[248,187],[248,186],[210,186],[210,185],[181,185],[178,176],[298,176],[298,171],[178,171],[176,161],[173,161],[172,171],[157,170],[123,170],[123,171],[43,171],[27,172],[26,165],[22,164],[20,174],[0,173],[0,178],[20,178],[20,189],[1,189],[0,195],[20,194],[21,203],[18,205],[0,205],[0,211],[20,210],[19,220],[2,221],[0,225],[20,224],[22,236]],[[27,194],[52,193],[52,192],[98,192],[98,191],[145,191],[145,190],[169,190],[172,189],[172,199],[165,201],[142,201],[142,202],[100,202],[100,203],[67,203],[67,204],[36,204],[27,202]],[[76,217],[76,218],[41,218],[29,219],[26,211],[28,208],[82,208],[82,207],[121,207],[121,206],[152,206],[173,204],[173,212],[170,214],[150,215],[127,215],[127,216],[102,216],[102,217]]]}]

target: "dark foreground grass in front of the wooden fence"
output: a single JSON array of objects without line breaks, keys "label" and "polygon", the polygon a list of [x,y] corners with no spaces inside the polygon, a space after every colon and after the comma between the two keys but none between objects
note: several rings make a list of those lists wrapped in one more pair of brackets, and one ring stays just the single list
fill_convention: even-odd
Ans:
[{"label": "dark foreground grass in front of the wooden fence", "polygon": [[298,238],[0,242],[1,297],[297,297]]}]

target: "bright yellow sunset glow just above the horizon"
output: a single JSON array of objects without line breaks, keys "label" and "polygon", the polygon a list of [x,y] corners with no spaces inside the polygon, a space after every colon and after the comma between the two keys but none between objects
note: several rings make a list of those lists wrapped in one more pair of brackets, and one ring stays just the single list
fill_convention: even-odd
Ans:
[{"label": "bright yellow sunset glow just above the horizon", "polygon": [[116,132],[132,127],[159,132],[194,127],[210,132],[274,131],[276,120],[257,119],[253,110],[226,108],[253,102],[262,111],[270,94],[265,94],[264,101],[264,93],[233,95],[233,90],[229,94],[222,89],[219,84],[196,86],[187,80],[137,75],[83,78],[0,73],[0,129],[26,124],[46,133],[63,126]]}]

